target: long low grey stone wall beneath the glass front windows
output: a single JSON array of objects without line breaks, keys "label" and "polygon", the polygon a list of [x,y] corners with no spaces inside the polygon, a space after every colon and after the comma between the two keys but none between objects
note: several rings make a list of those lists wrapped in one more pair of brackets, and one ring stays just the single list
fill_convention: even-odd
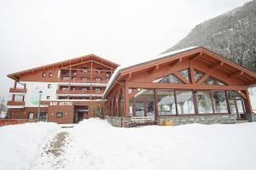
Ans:
[{"label": "long low grey stone wall beneath the glass front windows", "polygon": [[232,124],[232,123],[236,123],[236,115],[159,116],[157,124],[163,125],[164,122],[172,122],[172,125],[174,126],[189,124],[189,123]]}]

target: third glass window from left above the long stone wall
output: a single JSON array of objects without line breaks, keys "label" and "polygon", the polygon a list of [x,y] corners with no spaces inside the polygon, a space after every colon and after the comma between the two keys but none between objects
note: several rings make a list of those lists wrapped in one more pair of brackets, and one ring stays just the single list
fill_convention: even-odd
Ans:
[{"label": "third glass window from left above the long stone wall", "polygon": [[210,91],[198,91],[196,93],[198,113],[213,113]]}]

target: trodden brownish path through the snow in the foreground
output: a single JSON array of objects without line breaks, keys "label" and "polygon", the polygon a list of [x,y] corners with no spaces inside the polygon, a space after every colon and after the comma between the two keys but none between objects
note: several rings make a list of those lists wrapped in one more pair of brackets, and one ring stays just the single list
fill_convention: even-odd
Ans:
[{"label": "trodden brownish path through the snow in the foreground", "polygon": [[62,169],[67,165],[65,150],[71,144],[72,139],[67,131],[55,133],[52,139],[44,145],[41,155],[38,156],[31,169]]}]

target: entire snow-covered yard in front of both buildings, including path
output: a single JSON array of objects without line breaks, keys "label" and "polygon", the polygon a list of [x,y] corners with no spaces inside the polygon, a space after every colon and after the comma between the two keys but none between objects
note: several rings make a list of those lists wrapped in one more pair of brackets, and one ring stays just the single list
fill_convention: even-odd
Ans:
[{"label": "entire snow-covered yard in front of both buildings, including path", "polygon": [[112,127],[90,119],[0,127],[0,169],[256,169],[256,123]]}]

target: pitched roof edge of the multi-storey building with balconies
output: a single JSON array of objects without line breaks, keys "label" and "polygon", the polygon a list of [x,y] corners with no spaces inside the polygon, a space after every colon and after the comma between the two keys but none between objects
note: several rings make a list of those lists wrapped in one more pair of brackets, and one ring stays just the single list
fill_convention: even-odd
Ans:
[{"label": "pitched roof edge of the multi-storey building with balconies", "polygon": [[108,59],[103,59],[102,57],[99,57],[96,54],[88,54],[88,55],[84,55],[84,56],[81,56],[81,57],[76,57],[76,58],[73,58],[73,59],[67,59],[67,60],[63,60],[63,61],[60,61],[60,62],[52,63],[52,64],[49,64],[49,65],[43,65],[43,66],[35,67],[35,68],[28,69],[28,70],[25,70],[25,71],[18,71],[18,72],[11,73],[11,74],[7,75],[7,77],[12,78],[12,79],[16,79],[16,78],[19,78],[20,75],[26,74],[28,72],[38,71],[38,70],[42,70],[42,69],[46,69],[46,68],[50,68],[50,67],[54,68],[54,67],[60,67],[60,66],[67,66],[67,65],[79,63],[81,61],[85,61],[87,59],[95,59],[95,60],[102,61],[106,65],[113,66],[113,68],[116,68],[116,67],[119,66],[118,64],[116,64],[112,61],[109,61]]}]

